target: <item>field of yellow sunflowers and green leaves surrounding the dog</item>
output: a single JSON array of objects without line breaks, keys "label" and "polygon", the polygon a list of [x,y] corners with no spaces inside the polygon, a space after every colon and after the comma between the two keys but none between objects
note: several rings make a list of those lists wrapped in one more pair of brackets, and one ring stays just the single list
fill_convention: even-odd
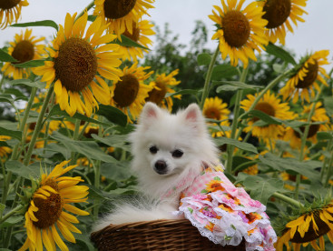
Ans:
[{"label": "field of yellow sunflowers and green leaves surrounding the dog", "polygon": [[[93,223],[138,194],[127,136],[148,101],[201,106],[224,173],[267,206],[276,250],[333,250],[332,56],[296,60],[285,45],[307,0],[211,5],[217,46],[197,52],[197,85],[176,64],[144,61],[154,0],[94,0],[62,24],[20,23],[31,1],[0,0],[0,35],[22,28],[0,45],[0,250],[95,250]],[[253,81],[261,69],[269,81]]]}]

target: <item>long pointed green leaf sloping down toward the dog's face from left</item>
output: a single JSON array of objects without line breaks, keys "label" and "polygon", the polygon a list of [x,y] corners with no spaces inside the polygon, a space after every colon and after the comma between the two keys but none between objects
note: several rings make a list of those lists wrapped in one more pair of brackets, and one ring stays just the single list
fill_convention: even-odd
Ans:
[{"label": "long pointed green leaf sloping down toward the dog's face from left", "polygon": [[94,141],[73,140],[58,132],[54,132],[51,137],[61,142],[68,151],[82,154],[91,159],[102,160],[103,162],[117,163],[117,160],[114,159],[113,156],[105,154],[101,147],[99,147]]}]

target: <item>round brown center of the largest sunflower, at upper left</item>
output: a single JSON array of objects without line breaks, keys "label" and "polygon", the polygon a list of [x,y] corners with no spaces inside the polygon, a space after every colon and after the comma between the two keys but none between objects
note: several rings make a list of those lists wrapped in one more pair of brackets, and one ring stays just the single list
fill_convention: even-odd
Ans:
[{"label": "round brown center of the largest sunflower, at upper left", "polygon": [[55,75],[67,90],[78,92],[93,81],[97,57],[92,45],[81,38],[71,37],[59,47],[54,58]]}]

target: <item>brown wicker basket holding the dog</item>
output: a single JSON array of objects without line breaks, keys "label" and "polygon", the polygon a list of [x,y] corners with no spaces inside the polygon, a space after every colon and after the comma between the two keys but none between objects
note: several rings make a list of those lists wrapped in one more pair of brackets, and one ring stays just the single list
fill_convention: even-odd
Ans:
[{"label": "brown wicker basket holding the dog", "polygon": [[189,220],[155,220],[110,225],[93,232],[92,241],[98,250],[245,250],[240,246],[219,246],[201,236]]}]

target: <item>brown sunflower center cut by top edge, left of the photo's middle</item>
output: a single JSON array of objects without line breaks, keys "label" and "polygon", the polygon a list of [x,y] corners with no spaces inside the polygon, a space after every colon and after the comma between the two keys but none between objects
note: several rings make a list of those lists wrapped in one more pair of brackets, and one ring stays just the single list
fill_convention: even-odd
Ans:
[{"label": "brown sunflower center cut by top edge, left of the photo's middle", "polygon": [[134,5],[136,0],[105,0],[104,2],[104,13],[105,17],[109,19],[122,18],[128,15]]}]

